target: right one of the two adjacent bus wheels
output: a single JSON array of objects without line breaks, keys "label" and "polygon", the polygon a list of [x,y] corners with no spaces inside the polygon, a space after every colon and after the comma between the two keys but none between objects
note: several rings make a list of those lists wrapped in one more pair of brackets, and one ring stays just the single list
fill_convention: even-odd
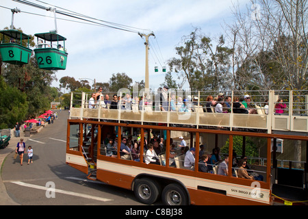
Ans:
[{"label": "right one of the two adjacent bus wheels", "polygon": [[171,183],[162,192],[164,205],[188,205],[188,197],[180,185]]}]

